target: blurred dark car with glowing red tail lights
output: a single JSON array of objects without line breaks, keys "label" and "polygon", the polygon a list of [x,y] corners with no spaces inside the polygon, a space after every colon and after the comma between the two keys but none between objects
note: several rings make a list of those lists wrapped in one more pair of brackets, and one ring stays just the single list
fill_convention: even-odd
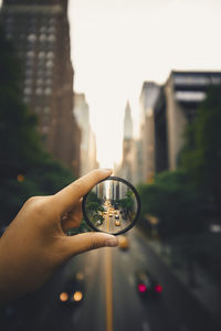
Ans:
[{"label": "blurred dark car with glowing red tail lights", "polygon": [[136,287],[141,298],[159,297],[162,291],[162,286],[147,270],[139,270],[135,275]]}]

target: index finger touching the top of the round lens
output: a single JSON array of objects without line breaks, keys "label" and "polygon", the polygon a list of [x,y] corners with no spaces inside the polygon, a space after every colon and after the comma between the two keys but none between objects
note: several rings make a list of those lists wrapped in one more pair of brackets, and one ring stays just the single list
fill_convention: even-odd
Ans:
[{"label": "index finger touching the top of the round lens", "polygon": [[95,169],[54,194],[61,213],[69,211],[95,184],[112,174],[110,169]]}]

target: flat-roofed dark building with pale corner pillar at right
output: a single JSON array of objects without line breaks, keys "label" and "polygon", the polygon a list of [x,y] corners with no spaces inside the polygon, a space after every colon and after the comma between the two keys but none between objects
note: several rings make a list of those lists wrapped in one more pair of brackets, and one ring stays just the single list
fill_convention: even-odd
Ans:
[{"label": "flat-roofed dark building with pale corner pillar at right", "polygon": [[169,169],[178,164],[185,142],[186,125],[196,116],[199,104],[207,97],[209,86],[221,84],[221,72],[170,73],[165,85]]}]

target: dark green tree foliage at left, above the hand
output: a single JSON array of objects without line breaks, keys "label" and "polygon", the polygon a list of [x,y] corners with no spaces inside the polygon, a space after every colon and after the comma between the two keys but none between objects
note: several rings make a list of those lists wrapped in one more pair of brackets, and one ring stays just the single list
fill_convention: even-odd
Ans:
[{"label": "dark green tree foliage at left, above the hand", "polygon": [[38,118],[22,102],[21,75],[13,45],[0,30],[0,225],[9,223],[28,197],[53,194],[74,180],[42,149]]}]

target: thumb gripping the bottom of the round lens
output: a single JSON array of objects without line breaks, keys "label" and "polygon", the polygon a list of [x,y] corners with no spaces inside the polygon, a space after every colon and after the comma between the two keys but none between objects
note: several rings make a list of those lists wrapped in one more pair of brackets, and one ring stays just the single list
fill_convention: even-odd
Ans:
[{"label": "thumb gripping the bottom of the round lens", "polygon": [[118,245],[118,239],[115,236],[97,232],[82,233],[73,237],[66,237],[66,239],[70,257],[91,249]]}]

